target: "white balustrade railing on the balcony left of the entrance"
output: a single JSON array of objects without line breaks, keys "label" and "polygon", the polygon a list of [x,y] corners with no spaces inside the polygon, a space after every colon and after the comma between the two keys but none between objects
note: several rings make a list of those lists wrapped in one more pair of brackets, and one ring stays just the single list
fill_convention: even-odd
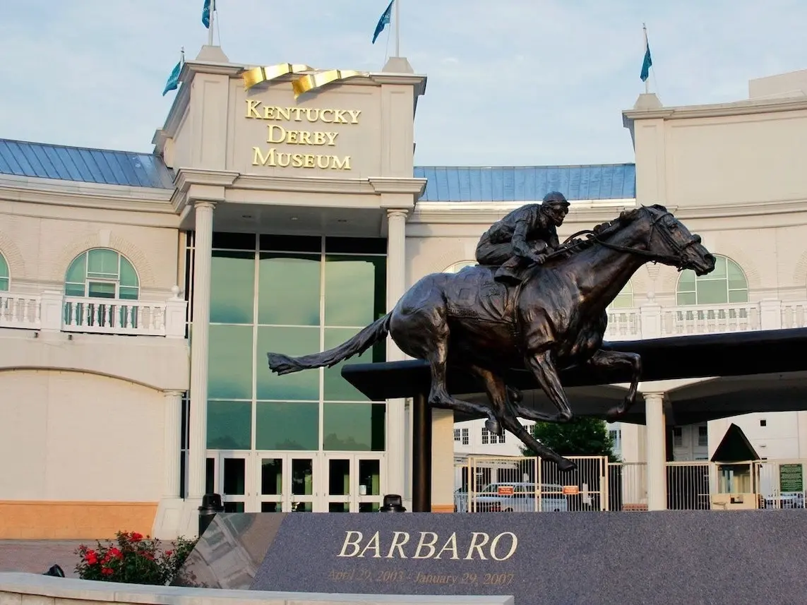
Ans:
[{"label": "white balustrade railing on the balcony left of the entrance", "polygon": [[185,337],[186,302],[83,298],[60,292],[0,292],[0,328],[123,336]]}]

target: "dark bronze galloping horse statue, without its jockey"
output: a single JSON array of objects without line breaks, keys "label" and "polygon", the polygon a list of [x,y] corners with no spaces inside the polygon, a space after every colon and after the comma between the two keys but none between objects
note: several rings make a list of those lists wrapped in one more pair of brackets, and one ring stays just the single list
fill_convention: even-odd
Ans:
[{"label": "dark bronze galloping horse statue, without its jockey", "polygon": [[[587,234],[586,239],[575,239]],[[288,357],[267,353],[278,374],[332,366],[358,355],[387,335],[403,353],[429,362],[429,405],[487,416],[486,427],[499,435],[508,429],[558,469],[574,462],[539,443],[518,417],[567,422],[572,417],[558,373],[589,365],[625,367],[632,379],[624,401],[608,411],[619,419],[636,399],[642,360],[635,353],[602,348],[608,324],[606,307],[647,262],[698,275],[714,269],[714,257],[678,219],[659,205],[623,211],[595,230],[575,233],[542,265],[524,273],[519,286],[493,280],[496,267],[475,265],[458,273],[431,273],[399,299],[395,308],[345,343],[322,353]],[[455,398],[446,388],[448,366],[469,370],[487,392],[489,405]],[[505,385],[510,368],[526,366],[558,408],[549,415],[525,407],[521,393]]]}]

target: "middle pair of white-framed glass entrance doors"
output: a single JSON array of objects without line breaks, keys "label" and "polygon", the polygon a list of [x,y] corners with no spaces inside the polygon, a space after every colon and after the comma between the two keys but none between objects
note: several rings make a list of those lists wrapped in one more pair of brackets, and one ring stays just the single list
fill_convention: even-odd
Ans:
[{"label": "middle pair of white-framed glass entrance doors", "polygon": [[257,454],[255,511],[312,512],[316,458],[305,454]]}]

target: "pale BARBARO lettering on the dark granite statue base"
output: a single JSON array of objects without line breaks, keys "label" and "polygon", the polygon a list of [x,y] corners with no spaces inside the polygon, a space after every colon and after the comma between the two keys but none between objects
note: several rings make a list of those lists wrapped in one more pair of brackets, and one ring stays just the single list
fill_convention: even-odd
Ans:
[{"label": "pale BARBARO lettering on the dark granite statue base", "polygon": [[[407,545],[408,548],[404,549]],[[501,532],[492,539],[485,532],[470,532],[470,536],[458,536],[453,532],[442,540],[435,532],[420,532],[420,538],[415,542],[409,532],[392,532],[391,539],[383,540],[381,532],[365,539],[362,532],[350,531],[345,532],[345,541],[337,557],[507,561],[516,549],[518,537],[512,532]]]}]

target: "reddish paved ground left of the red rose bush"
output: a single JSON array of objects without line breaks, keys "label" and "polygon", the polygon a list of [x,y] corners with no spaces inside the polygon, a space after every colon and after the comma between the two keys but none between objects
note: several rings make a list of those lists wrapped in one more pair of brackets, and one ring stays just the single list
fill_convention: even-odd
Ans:
[{"label": "reddish paved ground left of the red rose bush", "polygon": [[0,571],[24,571],[44,574],[51,565],[59,565],[67,578],[77,578],[80,545],[92,546],[94,540],[0,540]]}]

